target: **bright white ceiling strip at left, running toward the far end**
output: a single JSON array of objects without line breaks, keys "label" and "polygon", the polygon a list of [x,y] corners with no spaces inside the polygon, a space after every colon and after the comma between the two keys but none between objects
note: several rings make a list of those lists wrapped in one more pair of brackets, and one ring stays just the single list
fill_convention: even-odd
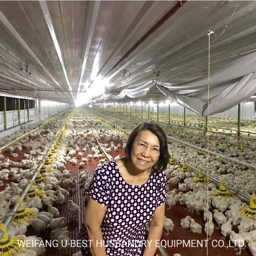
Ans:
[{"label": "bright white ceiling strip at left, running toward the far end", "polygon": [[74,96],[73,96],[73,94],[71,92],[72,88],[70,87],[70,84],[69,84],[69,81],[68,81],[67,72],[66,72],[66,69],[65,69],[65,66],[64,66],[64,62],[63,62],[63,59],[62,59],[61,49],[59,48],[58,40],[57,40],[56,34],[54,32],[53,25],[52,25],[52,19],[51,19],[51,15],[49,13],[47,2],[46,1],[39,1],[39,3],[40,3],[40,6],[41,6],[41,9],[43,11],[43,15],[45,16],[45,20],[46,20],[47,26],[49,28],[49,31],[51,33],[52,41],[54,43],[56,52],[58,54],[59,61],[61,62],[61,67],[62,67],[62,70],[64,72],[64,75],[65,75],[65,78],[66,78],[66,81],[67,81],[70,93],[72,95],[73,101],[75,101]]}]

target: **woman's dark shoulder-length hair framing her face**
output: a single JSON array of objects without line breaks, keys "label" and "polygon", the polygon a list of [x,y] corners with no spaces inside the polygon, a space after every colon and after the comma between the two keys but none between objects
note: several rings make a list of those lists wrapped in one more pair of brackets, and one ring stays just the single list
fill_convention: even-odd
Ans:
[{"label": "woman's dark shoulder-length hair framing her face", "polygon": [[166,169],[167,164],[169,163],[169,158],[171,156],[168,152],[167,137],[165,132],[159,125],[155,124],[152,121],[143,122],[131,132],[126,143],[125,156],[131,161],[132,144],[134,143],[135,138],[140,134],[140,132],[144,130],[151,131],[157,136],[160,142],[160,156],[157,162],[153,165],[152,169],[154,172],[162,172]]}]

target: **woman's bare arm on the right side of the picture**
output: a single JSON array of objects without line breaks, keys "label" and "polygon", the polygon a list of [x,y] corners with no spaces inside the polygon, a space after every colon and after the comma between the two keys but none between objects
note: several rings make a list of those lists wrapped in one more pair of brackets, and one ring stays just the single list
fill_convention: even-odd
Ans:
[{"label": "woman's bare arm on the right side of the picture", "polygon": [[150,244],[146,244],[142,256],[153,256],[156,252],[156,240],[161,239],[161,235],[163,232],[164,208],[165,203],[158,206],[155,210],[155,213],[150,221],[150,227],[147,236],[147,240],[150,242]]}]

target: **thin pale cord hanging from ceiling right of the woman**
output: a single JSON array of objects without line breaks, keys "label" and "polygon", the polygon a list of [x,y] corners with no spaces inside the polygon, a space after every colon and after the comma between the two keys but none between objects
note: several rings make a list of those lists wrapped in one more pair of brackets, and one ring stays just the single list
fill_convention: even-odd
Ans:
[{"label": "thin pale cord hanging from ceiling right of the woman", "polygon": [[[207,191],[209,191],[209,98],[210,98],[210,35],[214,32],[209,30],[207,33],[208,36],[208,102],[207,102]],[[209,193],[207,192],[207,222],[209,222],[209,214],[208,214],[208,205],[209,205]],[[209,224],[208,224],[209,226]],[[208,226],[207,226],[207,239],[208,239]],[[208,256],[208,242],[206,246],[206,255]]]}]

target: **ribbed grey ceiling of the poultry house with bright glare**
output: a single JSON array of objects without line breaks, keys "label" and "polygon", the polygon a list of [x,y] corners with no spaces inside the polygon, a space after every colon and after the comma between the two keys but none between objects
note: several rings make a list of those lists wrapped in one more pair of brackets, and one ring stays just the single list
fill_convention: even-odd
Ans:
[{"label": "ribbed grey ceiling of the poultry house with bright glare", "polygon": [[210,73],[256,51],[255,10],[255,1],[0,1],[0,90],[74,103],[102,84],[118,94],[153,79],[188,83],[208,74],[208,30]]}]

